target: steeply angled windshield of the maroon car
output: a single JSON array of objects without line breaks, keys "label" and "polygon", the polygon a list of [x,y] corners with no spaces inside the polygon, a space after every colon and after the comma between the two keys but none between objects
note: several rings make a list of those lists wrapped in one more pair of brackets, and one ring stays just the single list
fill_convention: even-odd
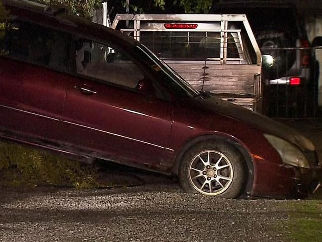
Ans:
[{"label": "steeply angled windshield of the maroon car", "polygon": [[200,94],[199,91],[190,86],[187,81],[144,45],[136,45],[134,51],[142,61],[148,64],[154,71],[158,72],[162,81],[164,81],[176,95],[180,97],[195,97]]}]

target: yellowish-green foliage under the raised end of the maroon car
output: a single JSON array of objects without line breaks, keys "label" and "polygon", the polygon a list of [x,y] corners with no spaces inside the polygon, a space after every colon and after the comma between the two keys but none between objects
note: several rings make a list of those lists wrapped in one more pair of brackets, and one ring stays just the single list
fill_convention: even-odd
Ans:
[{"label": "yellowish-green foliage under the raised end of the maroon car", "polygon": [[5,187],[72,186],[77,189],[96,186],[97,171],[92,166],[0,142],[0,185]]}]

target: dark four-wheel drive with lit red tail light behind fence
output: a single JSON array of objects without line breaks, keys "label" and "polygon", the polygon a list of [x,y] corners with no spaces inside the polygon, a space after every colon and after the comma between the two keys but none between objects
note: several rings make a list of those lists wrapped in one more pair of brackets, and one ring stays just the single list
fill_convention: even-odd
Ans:
[{"label": "dark four-wheel drive with lit red tail light behind fence", "polygon": [[210,13],[246,14],[263,60],[267,60],[262,72],[264,114],[274,118],[319,115],[316,59],[320,59],[296,5],[280,0],[214,1]]}]

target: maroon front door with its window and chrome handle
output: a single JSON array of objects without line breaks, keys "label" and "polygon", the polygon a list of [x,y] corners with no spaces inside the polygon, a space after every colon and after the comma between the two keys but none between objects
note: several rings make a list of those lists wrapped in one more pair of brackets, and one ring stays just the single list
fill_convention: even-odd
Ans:
[{"label": "maroon front door with its window and chrome handle", "polygon": [[66,139],[94,157],[158,166],[167,149],[171,105],[139,90],[151,80],[124,51],[87,39],[75,46],[77,73],[68,83],[62,117]]}]

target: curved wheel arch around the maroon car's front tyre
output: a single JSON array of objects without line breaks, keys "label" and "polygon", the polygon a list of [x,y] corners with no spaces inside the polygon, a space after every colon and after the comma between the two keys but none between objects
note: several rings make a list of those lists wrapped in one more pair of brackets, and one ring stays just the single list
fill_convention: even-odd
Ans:
[{"label": "curved wheel arch around the maroon car's front tyre", "polygon": [[226,135],[226,134],[205,134],[200,135],[197,137],[194,137],[190,140],[188,140],[180,149],[180,151],[177,153],[177,156],[174,161],[174,166],[172,168],[172,173],[175,175],[178,175],[179,173],[179,166],[181,159],[184,155],[184,153],[189,150],[193,145],[201,142],[207,142],[207,141],[224,141],[230,145],[232,145],[236,150],[242,155],[244,158],[244,162],[246,164],[247,169],[247,181],[244,184],[244,191],[242,196],[250,196],[252,193],[253,188],[253,182],[254,182],[254,164],[253,159],[250,151],[245,147],[245,145],[242,144],[239,140],[236,138]]}]

